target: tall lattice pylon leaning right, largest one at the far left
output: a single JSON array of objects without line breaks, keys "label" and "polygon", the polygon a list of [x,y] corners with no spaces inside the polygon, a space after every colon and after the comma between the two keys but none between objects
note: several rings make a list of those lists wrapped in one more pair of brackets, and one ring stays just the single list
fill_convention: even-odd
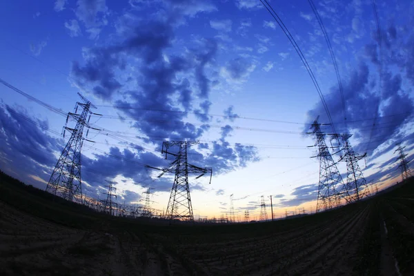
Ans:
[{"label": "tall lattice pylon leaning right, largest one at the far left", "polygon": [[[75,112],[68,112],[66,117],[66,125],[63,128],[63,137],[66,131],[71,132],[70,139],[57,160],[57,164],[50,175],[46,191],[63,197],[70,201],[82,202],[82,181],[81,181],[81,148],[83,141],[90,141],[83,138],[83,128],[92,128],[89,125],[90,115],[99,115],[90,111],[90,108],[97,108],[88,99],[81,97],[83,103],[77,102],[75,105]],[[77,113],[81,109],[80,113]],[[88,121],[86,120],[89,115]],[[100,116],[100,115],[99,115]],[[68,127],[68,120],[72,118],[76,121],[75,128]],[[99,130],[97,128],[92,128]],[[86,137],[88,137],[88,131]]]}]

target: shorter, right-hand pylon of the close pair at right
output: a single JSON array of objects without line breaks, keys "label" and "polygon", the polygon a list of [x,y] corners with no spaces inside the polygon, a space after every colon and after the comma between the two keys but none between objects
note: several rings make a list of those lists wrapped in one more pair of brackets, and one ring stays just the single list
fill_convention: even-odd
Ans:
[{"label": "shorter, right-hand pylon of the close pair at right", "polygon": [[344,155],[339,158],[339,161],[346,162],[346,199],[349,203],[371,195],[366,179],[358,165],[358,161],[366,157],[366,153],[357,155],[349,141],[351,136],[350,134],[341,135]]}]

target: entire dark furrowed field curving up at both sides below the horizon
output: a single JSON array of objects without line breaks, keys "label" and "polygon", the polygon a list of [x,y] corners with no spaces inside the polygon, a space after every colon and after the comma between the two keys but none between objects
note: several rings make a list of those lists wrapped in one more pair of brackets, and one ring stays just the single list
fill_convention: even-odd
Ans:
[{"label": "entire dark furrowed field curving up at both sides below the horizon", "polygon": [[157,226],[2,175],[0,275],[414,275],[414,183],[297,219]]}]

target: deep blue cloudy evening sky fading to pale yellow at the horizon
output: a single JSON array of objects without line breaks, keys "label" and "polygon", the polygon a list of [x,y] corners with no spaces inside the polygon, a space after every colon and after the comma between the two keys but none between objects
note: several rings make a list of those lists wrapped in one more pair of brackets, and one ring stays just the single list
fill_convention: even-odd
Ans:
[{"label": "deep blue cloudy evening sky fading to pale yellow at the horizon", "polygon": [[[395,144],[414,154],[414,1],[313,1],[337,70],[308,1],[268,2],[306,58],[335,130],[367,152],[359,166],[371,192],[400,181]],[[189,177],[196,218],[226,215],[230,195],[239,217],[257,218],[262,195],[266,204],[273,196],[275,217],[315,212],[319,161],[306,132],[317,116],[330,120],[261,1],[16,0],[2,3],[0,23],[4,172],[45,189],[69,138],[65,115],[9,83],[64,113],[80,92],[103,115],[91,117],[99,130],[82,148],[88,197],[105,197],[110,180],[119,202],[143,204],[142,186],[151,186],[152,207],[165,210],[173,175],[158,178],[145,165],[173,161],[162,141],[197,140],[188,162],[213,168],[213,179]],[[346,179],[344,162],[337,167]]]}]

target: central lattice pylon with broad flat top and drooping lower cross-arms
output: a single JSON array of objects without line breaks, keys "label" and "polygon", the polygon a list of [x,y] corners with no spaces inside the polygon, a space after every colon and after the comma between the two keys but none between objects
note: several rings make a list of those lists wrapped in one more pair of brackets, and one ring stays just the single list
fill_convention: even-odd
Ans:
[{"label": "central lattice pylon with broad flat top and drooping lower cross-arms", "polygon": [[[167,219],[170,219],[170,221],[174,219],[194,221],[193,206],[191,204],[190,197],[190,186],[188,185],[188,174],[200,174],[196,177],[197,179],[210,172],[211,183],[211,177],[213,176],[212,168],[200,168],[189,164],[187,161],[187,148],[195,144],[199,144],[199,141],[164,141],[162,143],[161,153],[166,154],[166,159],[168,155],[172,155],[175,157],[175,160],[172,161],[170,166],[167,168],[147,166],[148,168],[162,170],[158,177],[161,177],[166,172],[175,172],[174,184],[172,184],[170,199],[168,200],[166,211],[166,217]],[[171,147],[178,147],[177,153],[169,152],[168,149]]]}]

